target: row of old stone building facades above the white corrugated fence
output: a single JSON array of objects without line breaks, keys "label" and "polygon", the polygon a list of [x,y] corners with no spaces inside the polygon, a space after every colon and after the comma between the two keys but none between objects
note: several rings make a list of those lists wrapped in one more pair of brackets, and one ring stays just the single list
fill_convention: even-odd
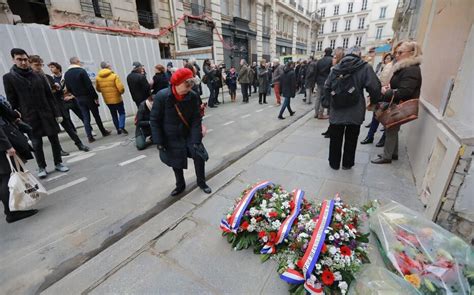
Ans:
[{"label": "row of old stone building facades above the white corrugated fence", "polygon": [[320,25],[311,0],[0,0],[0,7],[2,23],[149,32],[157,35],[162,58],[198,56],[227,65],[311,55]]}]

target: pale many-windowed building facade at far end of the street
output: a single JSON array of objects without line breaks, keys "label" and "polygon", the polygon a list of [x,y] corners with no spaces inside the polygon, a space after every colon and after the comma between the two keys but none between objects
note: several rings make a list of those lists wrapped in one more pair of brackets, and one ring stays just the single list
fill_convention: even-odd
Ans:
[{"label": "pale many-windowed building facade at far end of the street", "polygon": [[390,42],[397,8],[393,0],[318,0],[321,27],[316,54],[325,48],[359,46],[367,51]]}]

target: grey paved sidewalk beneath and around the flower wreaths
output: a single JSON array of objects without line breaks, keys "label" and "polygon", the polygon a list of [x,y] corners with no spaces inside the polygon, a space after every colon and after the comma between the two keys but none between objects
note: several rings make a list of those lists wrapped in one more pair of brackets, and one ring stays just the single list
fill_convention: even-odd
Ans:
[{"label": "grey paved sidewalk beneath and around the flower wreaths", "polygon": [[[312,116],[308,113],[214,176],[212,195],[192,191],[44,294],[288,294],[273,261],[262,264],[252,250],[233,251],[219,230],[234,199],[260,180],[287,190],[301,188],[313,200],[340,193],[351,204],[393,199],[422,209],[403,131],[399,161],[370,164],[381,149],[359,145],[353,169],[334,171],[327,161],[328,139],[321,136],[328,123]],[[361,130],[360,138],[366,132]],[[381,263],[373,247],[371,258]]]}]

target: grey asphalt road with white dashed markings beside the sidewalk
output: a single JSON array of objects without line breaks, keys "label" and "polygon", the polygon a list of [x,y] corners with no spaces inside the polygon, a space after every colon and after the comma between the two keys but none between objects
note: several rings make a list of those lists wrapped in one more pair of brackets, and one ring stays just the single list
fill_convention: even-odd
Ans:
[{"label": "grey asphalt road with white dashed markings beside the sidewalk", "polygon": [[[249,104],[227,102],[207,110],[204,144],[210,177],[311,109],[299,96],[292,100],[296,115],[278,120],[279,107],[273,97],[268,101],[259,105],[254,94]],[[63,148],[72,151],[63,159],[71,170],[52,172],[43,181],[50,195],[37,215],[13,224],[0,220],[1,294],[44,290],[176,201],[169,196],[172,170],[160,162],[156,147],[136,150],[133,119],[127,121],[128,137],[99,135],[88,153],[77,152],[61,135]],[[82,129],[79,133],[85,138]],[[51,170],[48,144],[45,153]],[[27,166],[36,172],[34,161]],[[195,182],[192,161],[185,177],[189,191]]]}]

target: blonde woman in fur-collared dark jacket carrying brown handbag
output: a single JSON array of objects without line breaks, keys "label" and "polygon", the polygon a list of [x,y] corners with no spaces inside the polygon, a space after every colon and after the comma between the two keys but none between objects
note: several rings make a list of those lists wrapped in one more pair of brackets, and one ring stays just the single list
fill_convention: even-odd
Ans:
[{"label": "blonde woman in fur-collared dark jacket carrying brown handbag", "polygon": [[[421,89],[421,48],[415,41],[405,41],[395,50],[396,63],[392,67],[390,84],[382,88],[385,101],[399,104],[420,97]],[[398,131],[400,126],[385,130],[384,152],[371,162],[388,164],[398,160]]]}]

